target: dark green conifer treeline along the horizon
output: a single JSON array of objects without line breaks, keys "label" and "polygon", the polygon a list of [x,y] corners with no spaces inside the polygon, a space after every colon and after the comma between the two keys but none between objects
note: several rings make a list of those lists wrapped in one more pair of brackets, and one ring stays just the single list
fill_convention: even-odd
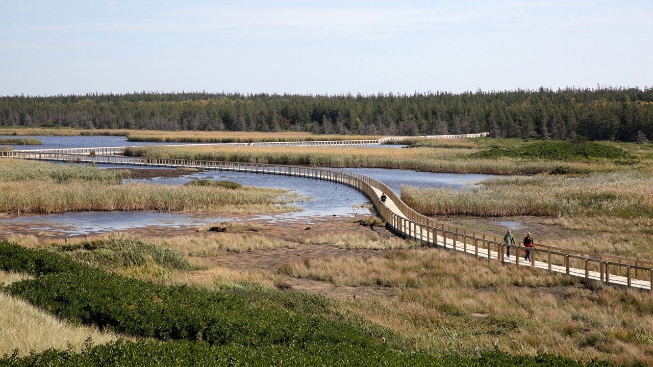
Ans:
[{"label": "dark green conifer treeline along the horizon", "polygon": [[653,88],[413,95],[158,93],[0,97],[0,125],[84,129],[653,139]]}]

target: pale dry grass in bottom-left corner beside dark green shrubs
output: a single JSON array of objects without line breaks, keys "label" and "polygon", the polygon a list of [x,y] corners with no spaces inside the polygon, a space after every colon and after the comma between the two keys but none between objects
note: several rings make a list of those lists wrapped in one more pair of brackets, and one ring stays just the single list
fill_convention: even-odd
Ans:
[{"label": "pale dry grass in bottom-left corner beside dark green shrubs", "polygon": [[[0,283],[12,283],[25,276],[0,272]],[[12,354],[18,348],[19,355],[49,348],[80,351],[84,342],[91,338],[95,344],[117,340],[118,335],[101,332],[97,328],[70,325],[45,313],[31,304],[0,292],[0,355]]]}]

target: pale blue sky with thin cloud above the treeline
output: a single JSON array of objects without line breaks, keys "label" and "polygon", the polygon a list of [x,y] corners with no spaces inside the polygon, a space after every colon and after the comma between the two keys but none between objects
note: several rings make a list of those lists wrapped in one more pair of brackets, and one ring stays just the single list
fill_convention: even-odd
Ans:
[{"label": "pale blue sky with thin cloud above the treeline", "polygon": [[0,0],[0,95],[653,86],[653,0]]}]

